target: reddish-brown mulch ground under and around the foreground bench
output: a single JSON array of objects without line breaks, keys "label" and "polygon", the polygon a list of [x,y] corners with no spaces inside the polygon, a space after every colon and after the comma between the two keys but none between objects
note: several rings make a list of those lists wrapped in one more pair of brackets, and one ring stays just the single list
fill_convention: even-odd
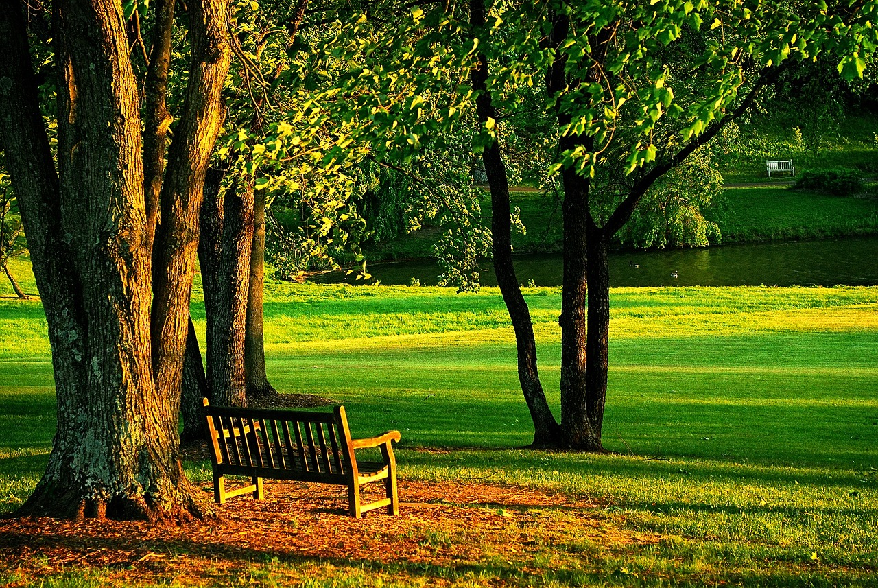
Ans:
[{"label": "reddish-brown mulch ground under and around the foreground bench", "polygon": [[[27,585],[35,577],[97,568],[112,570],[123,584],[146,578],[200,584],[272,558],[440,567],[499,558],[521,562],[524,570],[537,550],[571,534],[620,545],[655,541],[608,525],[600,507],[579,498],[529,489],[400,480],[399,516],[378,511],[361,520],[347,514],[342,486],[267,480],[265,490],[264,501],[233,498],[216,506],[217,520],[180,526],[0,520],[0,578],[15,574],[10,577],[21,582],[11,585]],[[205,498],[212,495],[211,488],[204,491]]]}]

